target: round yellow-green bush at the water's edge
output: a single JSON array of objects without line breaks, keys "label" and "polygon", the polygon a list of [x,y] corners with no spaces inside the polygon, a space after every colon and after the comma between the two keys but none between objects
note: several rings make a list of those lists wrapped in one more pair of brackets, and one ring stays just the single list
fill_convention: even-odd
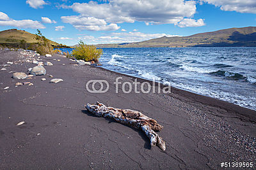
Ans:
[{"label": "round yellow-green bush at the water's edge", "polygon": [[72,55],[78,60],[97,62],[102,55],[102,49],[97,49],[94,45],[86,45],[83,41],[72,51]]}]

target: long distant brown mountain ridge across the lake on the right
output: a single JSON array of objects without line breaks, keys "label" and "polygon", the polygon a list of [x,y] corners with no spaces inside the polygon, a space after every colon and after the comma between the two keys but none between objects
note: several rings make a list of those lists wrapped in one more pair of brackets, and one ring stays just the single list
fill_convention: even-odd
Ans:
[{"label": "long distant brown mountain ridge across the lake on the right", "polygon": [[192,36],[150,39],[138,43],[100,44],[108,47],[191,47],[191,46],[256,46],[256,27],[242,27],[204,32]]}]

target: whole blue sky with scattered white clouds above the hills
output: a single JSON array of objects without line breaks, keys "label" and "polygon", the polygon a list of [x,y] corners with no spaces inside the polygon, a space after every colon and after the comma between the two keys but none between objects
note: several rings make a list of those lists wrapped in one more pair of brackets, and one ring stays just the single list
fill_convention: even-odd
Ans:
[{"label": "whole blue sky with scattered white clouds above the hills", "polygon": [[0,31],[58,43],[129,43],[256,25],[256,0],[1,0]]}]

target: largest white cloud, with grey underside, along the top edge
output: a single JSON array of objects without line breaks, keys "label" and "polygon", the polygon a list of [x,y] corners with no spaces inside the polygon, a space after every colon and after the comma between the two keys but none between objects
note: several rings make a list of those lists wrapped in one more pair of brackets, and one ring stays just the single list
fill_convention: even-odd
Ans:
[{"label": "largest white cloud, with grey underside, along the top edge", "polygon": [[135,20],[153,24],[175,24],[184,17],[195,14],[195,1],[184,0],[111,0],[108,3],[90,1],[74,3],[72,8],[86,17],[104,19],[108,23],[134,22]]}]

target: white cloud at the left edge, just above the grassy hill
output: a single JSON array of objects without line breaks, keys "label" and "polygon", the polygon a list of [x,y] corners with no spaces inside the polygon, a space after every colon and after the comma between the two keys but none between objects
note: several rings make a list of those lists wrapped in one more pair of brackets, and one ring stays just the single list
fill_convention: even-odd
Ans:
[{"label": "white cloud at the left edge, just above the grassy hill", "polygon": [[45,26],[42,25],[37,20],[13,20],[3,12],[0,12],[0,25],[13,26],[19,28],[45,29]]}]

